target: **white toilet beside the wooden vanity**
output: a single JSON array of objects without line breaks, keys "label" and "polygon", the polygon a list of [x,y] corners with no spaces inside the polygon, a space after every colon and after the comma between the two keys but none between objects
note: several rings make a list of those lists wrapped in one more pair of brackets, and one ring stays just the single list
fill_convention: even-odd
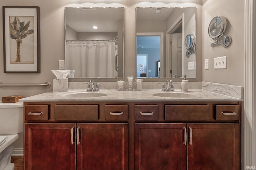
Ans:
[{"label": "white toilet beside the wooden vanity", "polygon": [[0,170],[14,170],[11,155],[14,141],[23,132],[23,102],[0,102]]}]

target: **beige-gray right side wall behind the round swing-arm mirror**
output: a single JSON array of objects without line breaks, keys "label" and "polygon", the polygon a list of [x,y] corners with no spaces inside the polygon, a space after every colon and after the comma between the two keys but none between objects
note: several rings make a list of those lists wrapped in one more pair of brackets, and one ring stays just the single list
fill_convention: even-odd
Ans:
[{"label": "beige-gray right side wall behind the round swing-arm mirror", "polygon": [[[209,70],[202,69],[202,80],[236,86],[244,85],[244,1],[203,0],[203,64],[209,59]],[[213,17],[227,18],[225,35],[232,37],[230,46],[210,47],[208,25]],[[214,69],[214,57],[227,56],[227,69]]]}]

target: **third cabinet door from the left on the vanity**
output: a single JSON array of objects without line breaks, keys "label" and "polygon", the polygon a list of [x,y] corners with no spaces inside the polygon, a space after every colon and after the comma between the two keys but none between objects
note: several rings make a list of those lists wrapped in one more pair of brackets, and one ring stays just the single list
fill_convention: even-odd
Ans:
[{"label": "third cabinet door from the left on the vanity", "polygon": [[136,170],[186,170],[186,123],[136,123]]}]

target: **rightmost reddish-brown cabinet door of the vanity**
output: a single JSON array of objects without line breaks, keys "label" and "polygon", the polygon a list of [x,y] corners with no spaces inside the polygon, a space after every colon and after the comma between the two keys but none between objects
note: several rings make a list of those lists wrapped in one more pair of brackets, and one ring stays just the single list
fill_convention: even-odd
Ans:
[{"label": "rightmost reddish-brown cabinet door of the vanity", "polygon": [[240,170],[239,124],[188,124],[188,170]]}]

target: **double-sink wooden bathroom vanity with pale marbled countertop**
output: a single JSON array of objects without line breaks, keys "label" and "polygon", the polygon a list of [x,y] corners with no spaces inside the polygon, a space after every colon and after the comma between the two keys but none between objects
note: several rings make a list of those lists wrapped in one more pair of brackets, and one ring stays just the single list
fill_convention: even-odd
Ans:
[{"label": "double-sink wooden bathroom vanity with pale marbled countertop", "polygon": [[241,169],[241,99],[205,90],[88,97],[95,93],[22,99],[26,170]]}]

